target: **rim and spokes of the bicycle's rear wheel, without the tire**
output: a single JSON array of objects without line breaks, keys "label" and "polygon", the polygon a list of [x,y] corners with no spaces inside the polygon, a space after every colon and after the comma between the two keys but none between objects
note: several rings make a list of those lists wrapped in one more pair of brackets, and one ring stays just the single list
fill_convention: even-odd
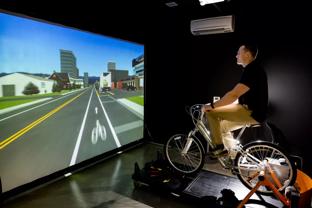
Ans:
[{"label": "rim and spokes of the bicycle's rear wheel, without the tire", "polygon": [[[271,145],[269,146],[269,145],[254,144],[246,147],[246,152],[248,152],[251,156],[254,156],[255,158],[259,159],[260,161],[263,161],[265,158],[268,160],[267,164],[269,165],[269,168],[267,171],[265,171],[265,175],[272,182],[272,184],[276,187],[277,190],[279,191],[285,190],[285,188],[291,183],[293,178],[293,168],[295,167],[292,166],[289,158],[287,158],[287,156],[285,156],[283,152],[278,150],[278,148],[272,147]],[[257,171],[259,171],[259,168],[241,154],[238,154],[238,158],[236,157],[236,159],[237,159],[237,161],[235,161],[236,166],[250,168],[250,171],[238,169],[239,173],[245,175],[245,176],[238,175],[238,177],[242,179],[243,180],[242,182],[244,182],[247,186],[253,188],[259,181],[258,180],[259,175],[253,177],[254,179],[251,180],[250,182],[247,181],[248,178],[246,176],[252,176]],[[280,159],[285,159],[285,164],[281,163]],[[256,161],[254,159],[252,160]],[[259,162],[257,163],[259,164]],[[274,180],[273,174],[269,174],[269,172],[271,171],[274,172],[274,175],[276,176],[278,182]],[[279,186],[281,187],[279,188]],[[260,186],[257,191],[264,194],[273,193],[267,186]]]}]

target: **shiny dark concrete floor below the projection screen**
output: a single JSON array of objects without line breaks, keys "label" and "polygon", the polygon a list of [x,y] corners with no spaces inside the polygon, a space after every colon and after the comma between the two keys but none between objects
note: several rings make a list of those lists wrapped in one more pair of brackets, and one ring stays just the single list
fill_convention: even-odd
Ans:
[{"label": "shiny dark concrete floor below the projection screen", "polygon": [[[156,160],[157,150],[163,153],[162,146],[141,144],[17,199],[7,200],[4,208],[201,207],[194,201],[168,195],[148,186],[134,188],[131,180],[134,163],[137,162],[143,168],[146,161]],[[205,164],[204,169],[232,176],[218,163]]]}]

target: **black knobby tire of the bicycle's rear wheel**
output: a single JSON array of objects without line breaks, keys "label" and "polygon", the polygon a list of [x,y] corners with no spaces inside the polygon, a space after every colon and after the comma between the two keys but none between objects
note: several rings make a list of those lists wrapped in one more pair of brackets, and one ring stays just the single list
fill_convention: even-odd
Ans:
[{"label": "black knobby tire of the bicycle's rear wheel", "polygon": [[[295,165],[295,162],[292,160],[291,156],[280,146],[278,145],[275,145],[271,142],[267,142],[267,141],[254,141],[254,142],[251,142],[251,143],[248,143],[246,144],[245,146],[242,147],[242,149],[244,151],[246,151],[247,148],[251,147],[251,146],[254,146],[254,145],[264,145],[264,146],[270,146],[272,148],[275,148],[276,150],[278,150],[279,152],[283,153],[285,155],[285,157],[288,159],[290,165],[291,165],[291,171],[292,171],[292,178],[291,178],[291,181],[290,183],[288,184],[288,186],[292,186],[295,184],[295,181],[297,179],[297,169],[296,169],[296,165]],[[237,167],[238,166],[238,160],[240,158],[241,154],[240,153],[237,153],[236,157],[235,157],[235,163],[234,165]],[[238,169],[235,169],[236,172],[239,173]],[[242,178],[243,176],[241,175],[238,175],[237,174],[237,177],[238,179],[241,181],[241,183],[246,186],[249,190],[252,189],[251,186],[249,186],[245,181],[244,179]],[[286,188],[286,187],[285,187]],[[285,193],[285,188],[280,190],[279,192],[281,194]],[[257,194],[260,194],[260,195],[263,195],[263,196],[275,196],[275,194],[273,192],[269,192],[269,193],[265,193],[265,192],[261,192],[261,191],[256,191]]]}]

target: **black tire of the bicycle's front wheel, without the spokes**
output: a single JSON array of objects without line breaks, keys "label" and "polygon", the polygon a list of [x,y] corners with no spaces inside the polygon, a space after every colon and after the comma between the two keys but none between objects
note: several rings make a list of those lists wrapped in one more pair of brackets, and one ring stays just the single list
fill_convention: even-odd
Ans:
[{"label": "black tire of the bicycle's front wheel, without the spokes", "polygon": [[[174,136],[178,136],[178,135],[183,135],[183,136],[188,137],[188,135],[186,135],[186,134],[176,134],[176,135],[174,135]],[[169,164],[170,166],[172,166],[176,171],[178,171],[178,172],[180,172],[180,173],[183,173],[184,175],[196,174],[196,173],[198,173],[199,171],[201,171],[201,170],[202,170],[202,167],[203,167],[204,164],[205,164],[205,150],[204,150],[204,148],[203,148],[203,146],[202,146],[202,143],[199,141],[199,139],[197,139],[196,136],[192,136],[191,138],[197,143],[197,145],[199,146],[200,151],[202,152],[202,155],[201,155],[202,161],[201,161],[201,163],[199,164],[199,166],[198,166],[198,168],[197,168],[196,170],[194,170],[194,171],[192,171],[192,172],[183,172],[183,171],[181,171],[181,170],[178,170],[176,167],[174,167],[174,166],[169,162],[169,159],[168,159],[168,151],[167,151],[167,150],[168,150],[168,144],[169,144],[169,141],[171,140],[171,138],[173,138],[174,136],[170,137],[170,138],[168,139],[168,141],[165,143],[165,145],[163,146],[163,147],[164,147],[164,148],[163,148],[163,152],[164,152],[164,155],[165,155],[165,158],[166,158],[166,161],[168,162],[168,164]]]}]

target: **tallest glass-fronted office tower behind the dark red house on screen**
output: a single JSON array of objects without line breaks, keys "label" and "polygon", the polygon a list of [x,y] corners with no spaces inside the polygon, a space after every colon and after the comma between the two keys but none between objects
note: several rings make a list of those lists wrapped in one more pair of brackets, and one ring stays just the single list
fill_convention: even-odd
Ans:
[{"label": "tallest glass-fronted office tower behind the dark red house on screen", "polygon": [[76,67],[76,56],[72,51],[61,50],[61,72],[68,73],[69,77],[76,79],[79,69]]}]

